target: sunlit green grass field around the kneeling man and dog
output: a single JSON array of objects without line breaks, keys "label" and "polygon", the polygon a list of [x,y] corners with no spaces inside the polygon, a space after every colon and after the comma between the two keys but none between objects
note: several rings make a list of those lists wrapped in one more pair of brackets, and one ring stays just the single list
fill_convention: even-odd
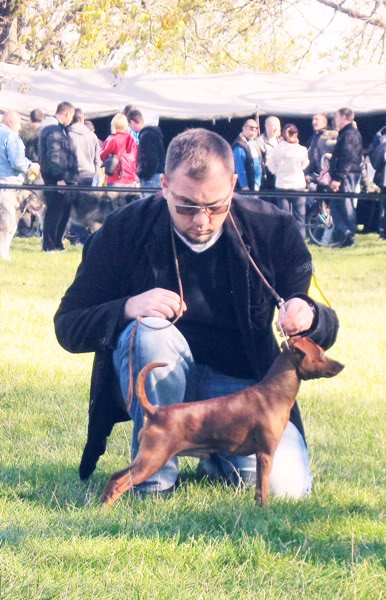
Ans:
[{"label": "sunlit green grass field around the kneeling man and dog", "polygon": [[185,459],[173,497],[126,495],[109,513],[98,496],[128,463],[130,426],[80,483],[92,357],[62,350],[52,325],[80,251],[15,240],[0,263],[2,600],[386,598],[386,245],[358,237],[312,249],[346,369],[301,389],[311,497],[262,509]]}]

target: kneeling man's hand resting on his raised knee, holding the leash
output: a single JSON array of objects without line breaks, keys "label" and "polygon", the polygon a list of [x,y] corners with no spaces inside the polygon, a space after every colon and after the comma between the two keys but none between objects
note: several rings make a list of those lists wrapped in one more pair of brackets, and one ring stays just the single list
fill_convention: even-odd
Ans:
[{"label": "kneeling man's hand resting on his raised knee, holding the leash", "polygon": [[[182,311],[187,309],[185,302]],[[125,304],[125,318],[128,321],[137,317],[160,317],[173,319],[180,310],[180,297],[175,292],[154,288],[138,296],[132,296]]]}]

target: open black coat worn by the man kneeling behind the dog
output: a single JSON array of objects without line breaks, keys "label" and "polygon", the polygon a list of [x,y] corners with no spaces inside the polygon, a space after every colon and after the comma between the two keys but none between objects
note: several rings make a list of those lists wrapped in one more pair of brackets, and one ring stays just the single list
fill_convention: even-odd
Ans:
[{"label": "open black coat worn by the man kneeling behind the dog", "polygon": [[[252,257],[276,291],[284,298],[306,294],[311,256],[293,217],[269,203],[237,194],[232,214]],[[251,270],[229,219],[223,235],[238,326],[251,368],[260,380],[279,352],[272,331],[274,301]],[[128,297],[164,287],[172,264],[167,236],[170,217],[161,194],[112,213],[86,243],[76,278],[55,315],[56,335],[65,349],[95,352],[82,479],[93,472],[114,423],[129,418],[114,375],[112,352],[126,325],[123,311]],[[337,317],[320,304],[316,313],[310,337],[327,348],[335,341]],[[291,420],[303,433],[297,405]]]}]

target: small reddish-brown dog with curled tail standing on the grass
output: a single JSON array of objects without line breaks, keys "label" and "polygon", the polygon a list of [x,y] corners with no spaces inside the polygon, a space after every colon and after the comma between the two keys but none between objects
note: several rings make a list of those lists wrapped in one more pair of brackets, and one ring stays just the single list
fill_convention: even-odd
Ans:
[{"label": "small reddish-brown dog with curled tail standing on the grass", "polygon": [[229,396],[173,406],[153,406],[147,399],[150,363],[138,375],[137,396],[145,411],[140,447],[127,469],[115,473],[101,501],[113,504],[121,494],[156,473],[173,456],[206,458],[213,453],[256,454],[256,500],[268,500],[273,456],[286,428],[302,379],[334,377],[344,366],[325,356],[309,338],[294,337],[257,385]]}]

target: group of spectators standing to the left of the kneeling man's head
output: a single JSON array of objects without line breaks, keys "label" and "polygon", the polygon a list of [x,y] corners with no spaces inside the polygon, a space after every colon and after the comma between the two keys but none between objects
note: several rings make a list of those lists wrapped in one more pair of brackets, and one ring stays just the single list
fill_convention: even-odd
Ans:
[{"label": "group of spectators standing to the left of the kneeling man's head", "polygon": [[54,117],[31,111],[24,126],[21,116],[9,111],[0,124],[0,182],[17,186],[27,180],[55,188],[44,192],[45,252],[64,250],[66,233],[70,239],[87,236],[78,226],[68,228],[74,186],[159,187],[164,164],[161,129],[145,126],[132,106],[114,116],[104,142],[70,102],[61,102]]}]

